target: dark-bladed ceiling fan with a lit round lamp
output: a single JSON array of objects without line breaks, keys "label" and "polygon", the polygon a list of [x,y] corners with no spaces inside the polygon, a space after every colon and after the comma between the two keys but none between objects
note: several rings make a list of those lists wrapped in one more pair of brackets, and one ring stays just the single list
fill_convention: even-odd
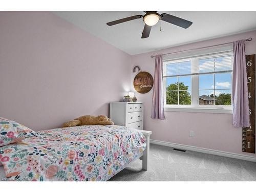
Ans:
[{"label": "dark-bladed ceiling fan with a lit round lamp", "polygon": [[150,36],[151,27],[156,25],[160,19],[185,29],[188,28],[190,25],[192,25],[192,22],[189,22],[189,20],[185,20],[183,18],[176,17],[174,15],[169,15],[167,13],[162,13],[160,15],[157,13],[157,11],[144,11],[144,12],[146,13],[144,15],[134,15],[131,17],[121,18],[118,20],[114,20],[113,22],[106,23],[106,25],[112,26],[112,25],[128,22],[129,20],[134,20],[134,19],[143,17],[143,22],[145,23],[145,26],[144,26],[141,38],[147,38],[148,36]]}]

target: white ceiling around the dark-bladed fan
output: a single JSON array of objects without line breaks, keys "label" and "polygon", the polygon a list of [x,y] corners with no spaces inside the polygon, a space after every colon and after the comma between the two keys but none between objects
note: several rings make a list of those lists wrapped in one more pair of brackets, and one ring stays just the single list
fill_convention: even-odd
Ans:
[{"label": "white ceiling around the dark-bladed fan", "polygon": [[[190,20],[193,24],[188,29],[183,29],[161,21],[152,27],[150,37],[144,39],[141,39],[144,27],[142,18],[115,26],[106,25],[120,18],[143,15],[142,11],[54,13],[130,55],[256,30],[256,11],[159,11],[160,14],[168,13]],[[159,30],[160,25],[162,31]]]}]

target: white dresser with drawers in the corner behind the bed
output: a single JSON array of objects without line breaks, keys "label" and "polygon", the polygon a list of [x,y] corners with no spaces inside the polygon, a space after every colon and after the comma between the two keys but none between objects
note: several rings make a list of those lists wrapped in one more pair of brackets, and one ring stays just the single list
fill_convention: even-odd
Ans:
[{"label": "white dresser with drawers in the corner behind the bed", "polygon": [[143,130],[143,103],[111,102],[110,118],[116,125]]}]

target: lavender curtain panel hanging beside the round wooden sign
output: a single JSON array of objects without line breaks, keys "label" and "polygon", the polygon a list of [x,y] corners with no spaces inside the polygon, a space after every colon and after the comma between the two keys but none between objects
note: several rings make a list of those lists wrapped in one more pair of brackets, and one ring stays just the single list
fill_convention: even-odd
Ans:
[{"label": "lavender curtain panel hanging beside the round wooden sign", "polygon": [[163,106],[163,59],[161,55],[156,55],[155,60],[151,118],[165,119]]}]

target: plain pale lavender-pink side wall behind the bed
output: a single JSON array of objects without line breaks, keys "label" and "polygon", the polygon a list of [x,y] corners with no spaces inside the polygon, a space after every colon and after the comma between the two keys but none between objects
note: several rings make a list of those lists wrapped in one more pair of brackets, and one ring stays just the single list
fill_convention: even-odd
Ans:
[{"label": "plain pale lavender-pink side wall behind the bed", "polygon": [[51,129],[130,89],[130,55],[50,12],[0,12],[0,26],[0,117]]}]

